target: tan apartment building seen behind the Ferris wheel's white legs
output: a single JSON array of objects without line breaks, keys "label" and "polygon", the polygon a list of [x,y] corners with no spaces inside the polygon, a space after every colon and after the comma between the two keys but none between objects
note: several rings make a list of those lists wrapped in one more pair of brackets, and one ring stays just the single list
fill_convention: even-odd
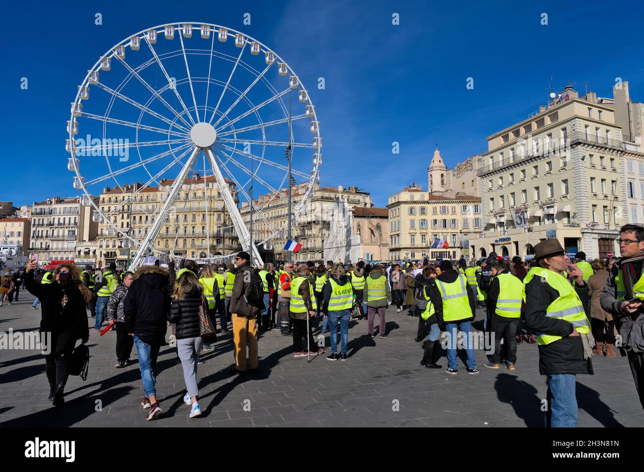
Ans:
[{"label": "tan apartment building seen behind the Ferris wheel's white legs", "polygon": [[[225,179],[233,199],[239,202],[235,184]],[[142,241],[151,229],[158,205],[168,198],[174,180],[162,179],[158,187],[141,184],[106,187],[99,195],[100,210],[120,231]],[[240,250],[231,218],[214,176],[186,178],[173,209],[153,242],[155,249],[189,258],[212,258]],[[97,264],[126,266],[137,254],[131,241],[107,222],[99,223]]]}]

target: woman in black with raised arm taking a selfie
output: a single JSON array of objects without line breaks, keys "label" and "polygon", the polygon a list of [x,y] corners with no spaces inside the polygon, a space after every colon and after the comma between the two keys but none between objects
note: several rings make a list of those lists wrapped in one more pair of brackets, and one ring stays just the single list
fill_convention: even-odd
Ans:
[{"label": "woman in black with raised arm taking a selfie", "polygon": [[43,317],[40,332],[49,333],[49,351],[45,372],[49,381],[49,399],[55,406],[64,404],[65,384],[70,376],[71,352],[78,339],[87,343],[90,330],[85,305],[90,303],[91,292],[81,280],[81,270],[74,264],[61,264],[53,273],[52,283],[38,283],[33,278],[37,262],[27,263],[24,282],[30,294],[41,300]]}]

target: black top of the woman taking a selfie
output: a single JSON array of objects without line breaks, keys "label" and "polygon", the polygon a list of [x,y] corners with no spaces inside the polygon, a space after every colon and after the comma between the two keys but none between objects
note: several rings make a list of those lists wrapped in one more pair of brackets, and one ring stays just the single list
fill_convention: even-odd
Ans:
[{"label": "black top of the woman taking a selfie", "polygon": [[[60,355],[71,352],[76,341],[82,339],[87,343],[90,338],[90,328],[87,323],[85,299],[78,284],[71,283],[63,287],[55,281],[39,283],[33,278],[33,270],[26,272],[24,283],[30,294],[41,301],[41,332],[50,332],[56,341],[52,352]],[[64,292],[64,293],[63,293]],[[62,297],[67,295],[68,302],[62,308]]]}]

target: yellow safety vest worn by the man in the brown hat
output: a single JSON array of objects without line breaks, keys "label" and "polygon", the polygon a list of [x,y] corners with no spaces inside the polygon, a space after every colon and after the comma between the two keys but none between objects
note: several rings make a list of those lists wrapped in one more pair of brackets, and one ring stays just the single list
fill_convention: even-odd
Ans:
[{"label": "yellow safety vest worn by the man in the brown hat", "polygon": [[[591,328],[588,324],[583,304],[577,292],[571,287],[570,283],[564,276],[553,272],[552,270],[543,269],[542,267],[533,267],[529,270],[524,279],[524,292],[523,299],[526,300],[526,285],[533,279],[533,277],[542,277],[545,279],[550,287],[559,292],[559,297],[553,301],[545,312],[545,316],[564,319],[572,323],[574,329],[582,334],[588,334]],[[536,300],[531,300],[531,303],[537,303]],[[539,345],[548,345],[562,339],[561,336],[538,333],[536,341]]]}]

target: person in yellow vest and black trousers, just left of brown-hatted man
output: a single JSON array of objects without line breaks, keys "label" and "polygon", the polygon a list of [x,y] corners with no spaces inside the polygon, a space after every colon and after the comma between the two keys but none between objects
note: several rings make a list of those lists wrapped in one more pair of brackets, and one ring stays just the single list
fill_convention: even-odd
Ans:
[{"label": "person in yellow vest and black trousers, just left of brown-hatted man", "polygon": [[523,301],[523,283],[510,273],[510,263],[506,260],[492,263],[492,275],[489,283],[488,303],[492,316],[492,332],[495,334],[494,354],[484,364],[488,369],[500,368],[501,339],[505,339],[505,359],[508,370],[515,370],[516,364],[516,330],[521,323],[521,303]]}]

